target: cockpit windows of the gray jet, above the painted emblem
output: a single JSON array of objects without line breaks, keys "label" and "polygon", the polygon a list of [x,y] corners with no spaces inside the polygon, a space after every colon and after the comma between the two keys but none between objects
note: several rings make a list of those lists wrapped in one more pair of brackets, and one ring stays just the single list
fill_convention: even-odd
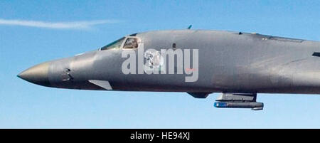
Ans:
[{"label": "cockpit windows of the gray jet, above the painted emblem", "polygon": [[108,44],[107,46],[100,48],[100,51],[105,51],[109,49],[120,49],[120,48],[134,49],[134,48],[138,48],[138,46],[139,46],[139,38],[128,36],[128,37],[119,38],[117,41],[114,41]]}]

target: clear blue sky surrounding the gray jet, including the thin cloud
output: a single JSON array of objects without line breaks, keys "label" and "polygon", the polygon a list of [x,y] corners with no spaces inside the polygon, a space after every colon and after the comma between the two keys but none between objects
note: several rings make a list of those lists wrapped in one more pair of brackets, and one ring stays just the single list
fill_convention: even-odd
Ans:
[{"label": "clear blue sky surrounding the gray jet, including the thin cloud", "polygon": [[16,77],[130,33],[190,24],[319,41],[319,7],[311,0],[0,1],[0,128],[319,128],[320,95],[259,94],[262,111],[217,109],[220,93],[199,100],[183,92],[63,90]]}]

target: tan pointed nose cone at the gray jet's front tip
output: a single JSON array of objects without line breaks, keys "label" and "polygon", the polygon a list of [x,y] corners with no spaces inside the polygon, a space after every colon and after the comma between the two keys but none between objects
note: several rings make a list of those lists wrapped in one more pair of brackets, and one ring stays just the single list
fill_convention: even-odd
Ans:
[{"label": "tan pointed nose cone at the gray jet's front tip", "polygon": [[17,76],[23,80],[37,85],[50,86],[48,79],[49,63],[41,63],[27,70],[24,70]]}]

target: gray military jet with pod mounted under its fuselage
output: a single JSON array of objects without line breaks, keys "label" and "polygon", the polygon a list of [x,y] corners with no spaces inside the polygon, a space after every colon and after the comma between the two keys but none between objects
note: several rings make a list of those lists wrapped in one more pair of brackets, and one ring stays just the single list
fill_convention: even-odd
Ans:
[{"label": "gray military jet with pod mounted under its fuselage", "polygon": [[52,60],[19,78],[52,88],[221,92],[215,107],[262,110],[257,93],[320,94],[320,43],[259,33],[134,33],[95,51]]}]

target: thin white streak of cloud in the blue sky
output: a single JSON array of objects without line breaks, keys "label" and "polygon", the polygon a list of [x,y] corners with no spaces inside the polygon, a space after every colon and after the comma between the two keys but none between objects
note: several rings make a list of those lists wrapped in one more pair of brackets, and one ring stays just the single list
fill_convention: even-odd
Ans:
[{"label": "thin white streak of cloud in the blue sky", "polygon": [[93,26],[105,23],[118,23],[115,20],[98,20],[98,21],[72,21],[72,22],[46,22],[46,21],[23,21],[8,20],[0,18],[0,25],[9,26],[29,26],[37,28],[55,28],[55,29],[91,29]]}]

